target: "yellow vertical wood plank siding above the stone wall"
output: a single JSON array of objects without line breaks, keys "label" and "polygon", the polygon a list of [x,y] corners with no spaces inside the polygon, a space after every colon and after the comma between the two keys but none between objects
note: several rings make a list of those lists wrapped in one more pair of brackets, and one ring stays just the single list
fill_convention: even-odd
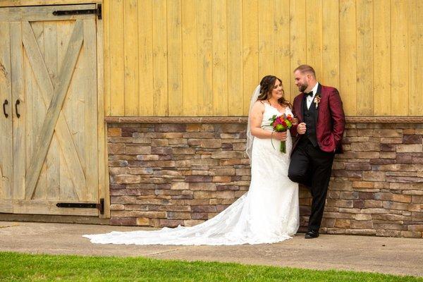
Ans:
[{"label": "yellow vertical wood plank siding above the stone wall", "polygon": [[312,65],[348,116],[422,116],[419,0],[104,0],[107,116],[245,116]]}]

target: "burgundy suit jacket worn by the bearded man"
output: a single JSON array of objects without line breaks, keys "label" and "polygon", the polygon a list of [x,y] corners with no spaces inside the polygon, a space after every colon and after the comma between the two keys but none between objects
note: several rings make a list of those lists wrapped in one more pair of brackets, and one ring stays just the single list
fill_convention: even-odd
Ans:
[{"label": "burgundy suit jacket worn by the bearded man", "polygon": [[[314,99],[317,95],[320,96],[320,102],[317,106],[317,143],[324,152],[342,153],[341,142],[345,128],[345,115],[339,92],[335,87],[319,85]],[[305,103],[304,93],[298,94],[293,102],[293,114],[298,118],[298,123],[304,121],[302,103]],[[314,106],[314,104],[312,104],[312,106]],[[290,133],[298,137],[293,145],[294,151],[300,138],[305,136],[297,133],[297,126],[293,126],[290,129]]]}]

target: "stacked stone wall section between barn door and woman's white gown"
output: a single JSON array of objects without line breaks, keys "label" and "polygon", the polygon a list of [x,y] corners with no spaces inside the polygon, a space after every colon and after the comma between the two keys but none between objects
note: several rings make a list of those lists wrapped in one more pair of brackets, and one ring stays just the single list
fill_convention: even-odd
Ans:
[{"label": "stacked stone wall section between barn door and woman's white gown", "polygon": [[250,185],[245,124],[109,125],[111,223],[192,226]]}]

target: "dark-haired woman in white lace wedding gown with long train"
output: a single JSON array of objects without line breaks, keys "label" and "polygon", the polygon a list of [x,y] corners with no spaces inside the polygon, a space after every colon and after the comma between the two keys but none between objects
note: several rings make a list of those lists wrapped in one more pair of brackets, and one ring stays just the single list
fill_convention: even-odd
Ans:
[{"label": "dark-haired woman in white lace wedding gown with long train", "polygon": [[[289,130],[272,133],[269,126],[274,115],[292,115],[283,96],[282,81],[273,75],[265,76],[252,94],[246,149],[250,189],[223,212],[197,226],[84,237],[92,243],[135,245],[242,245],[290,239],[300,222],[298,184],[288,178],[293,143]],[[286,140],[286,154],[274,149],[280,140]]]}]

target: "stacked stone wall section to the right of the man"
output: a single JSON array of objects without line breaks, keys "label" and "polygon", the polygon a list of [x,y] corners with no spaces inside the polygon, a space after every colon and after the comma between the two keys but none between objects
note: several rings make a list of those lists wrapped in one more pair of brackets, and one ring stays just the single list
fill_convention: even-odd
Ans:
[{"label": "stacked stone wall section to the right of the man", "polygon": [[324,213],[327,233],[421,238],[422,123],[347,123]]}]

